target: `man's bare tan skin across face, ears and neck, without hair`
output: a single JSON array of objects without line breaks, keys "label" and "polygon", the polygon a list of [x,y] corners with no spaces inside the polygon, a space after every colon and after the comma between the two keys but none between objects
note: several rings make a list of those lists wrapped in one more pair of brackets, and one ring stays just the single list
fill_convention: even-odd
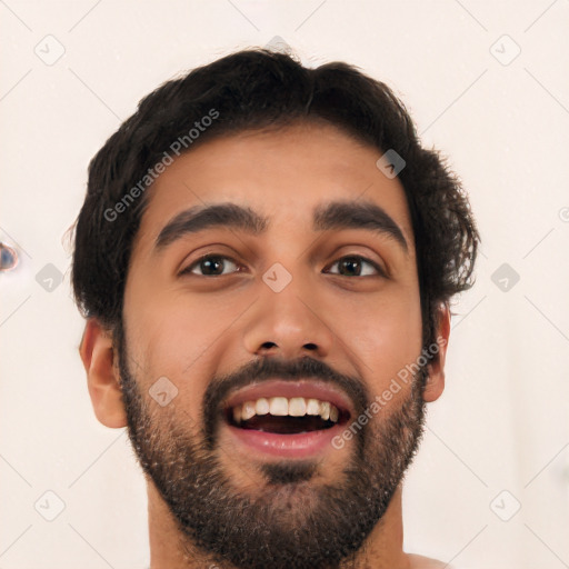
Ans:
[{"label": "man's bare tan skin across face, ears and neck, without hair", "polygon": [[[192,149],[147,190],[150,201],[134,238],[124,291],[129,365],[141,378],[143,393],[162,376],[176,383],[184,429],[198,436],[202,396],[212,376],[231,372],[258,356],[321,359],[338,372],[360,378],[372,396],[382,393],[399,370],[417,360],[421,310],[412,224],[401,183],[376,167],[380,156],[331,126],[242,132]],[[359,229],[312,231],[315,207],[358,198],[389,213],[409,243],[408,254],[393,240]],[[220,201],[247,204],[268,216],[267,233],[252,237],[214,229],[187,236],[158,256],[152,251],[158,233],[177,213]],[[227,276],[204,277],[198,263],[196,274],[178,276],[206,252],[229,256],[244,272],[226,264]],[[390,277],[338,274],[336,261],[346,256],[378,262],[389,268]],[[292,276],[278,295],[262,280],[274,262]],[[362,271],[376,274],[367,264]],[[439,321],[437,336],[443,341],[429,365],[426,402],[437,400],[445,388],[447,306],[441,307]],[[109,332],[96,319],[88,320],[80,355],[93,409],[102,425],[122,428],[127,418],[114,350]],[[409,386],[403,386],[387,411],[397,409],[408,395]],[[382,420],[381,413],[372,420]],[[224,431],[220,443],[223,469],[236,488],[251,496],[262,492],[257,458],[231,445]],[[318,483],[335,480],[350,452],[353,440],[327,450]],[[174,520],[148,477],[147,483],[151,568],[207,567],[198,551],[193,560],[182,559]],[[399,487],[382,523],[362,548],[358,567],[443,567],[403,552],[402,541]]]}]

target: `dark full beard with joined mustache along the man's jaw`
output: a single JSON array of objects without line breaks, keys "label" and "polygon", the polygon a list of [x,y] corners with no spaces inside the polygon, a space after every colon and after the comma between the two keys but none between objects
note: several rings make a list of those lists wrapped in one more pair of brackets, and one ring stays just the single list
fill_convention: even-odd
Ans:
[{"label": "dark full beard with joined mustache along the man's jaw", "polygon": [[214,378],[203,397],[202,416],[193,421],[176,399],[160,408],[142,397],[143,378],[129,371],[122,330],[118,343],[129,438],[178,526],[188,561],[202,558],[239,569],[358,567],[358,553],[381,523],[422,437],[427,366],[413,376],[398,409],[391,409],[391,402],[385,408],[389,412],[381,409],[352,431],[349,459],[333,483],[316,483],[322,468],[317,460],[264,463],[257,467],[254,480],[251,462],[240,477],[251,478],[257,491],[247,492],[236,487],[221,462],[219,403],[229,391],[264,378],[316,377],[350,396],[357,416],[349,427],[372,402],[361,380],[308,357],[256,360],[237,373]]}]

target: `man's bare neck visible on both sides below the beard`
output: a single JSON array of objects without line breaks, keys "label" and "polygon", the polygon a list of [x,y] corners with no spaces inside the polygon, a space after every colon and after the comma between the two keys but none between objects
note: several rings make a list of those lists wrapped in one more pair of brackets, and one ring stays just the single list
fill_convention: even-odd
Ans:
[{"label": "man's bare neck visible on both sides below the beard", "polygon": [[[152,481],[147,479],[150,569],[236,569],[220,565],[188,542]],[[186,552],[184,552],[186,551]],[[191,551],[188,556],[188,551]],[[403,552],[401,487],[357,557],[341,569],[410,569]]]}]

